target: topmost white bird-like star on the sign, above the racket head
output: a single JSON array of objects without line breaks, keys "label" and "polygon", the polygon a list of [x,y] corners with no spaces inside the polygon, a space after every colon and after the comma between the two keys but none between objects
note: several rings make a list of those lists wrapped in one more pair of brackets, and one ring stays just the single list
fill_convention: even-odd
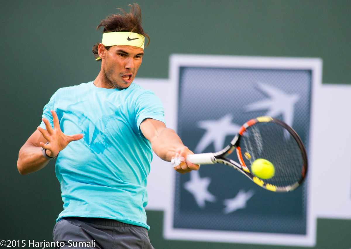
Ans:
[{"label": "topmost white bird-like star on the sign, above the racket head", "polygon": [[268,110],[265,115],[270,117],[277,117],[282,114],[283,121],[292,126],[294,105],[299,99],[298,94],[287,94],[260,82],[257,85],[258,88],[270,98],[245,106],[246,111]]}]

